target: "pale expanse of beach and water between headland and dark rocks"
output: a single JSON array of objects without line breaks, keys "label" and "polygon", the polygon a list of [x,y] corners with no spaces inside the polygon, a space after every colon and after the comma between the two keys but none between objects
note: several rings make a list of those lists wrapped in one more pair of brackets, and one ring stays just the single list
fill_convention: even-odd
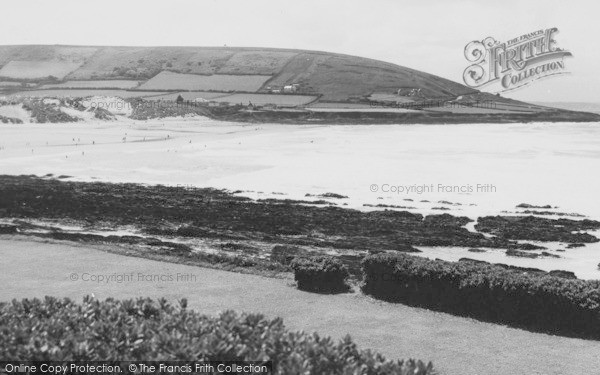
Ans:
[{"label": "pale expanse of beach and water between headland and dark rocks", "polygon": [[[523,211],[515,207],[520,203],[550,205],[538,210],[554,214],[549,218],[600,218],[600,182],[589,178],[600,168],[600,128],[593,123],[282,126],[121,119],[3,125],[0,135],[0,174],[214,187],[253,199],[334,192],[348,197],[336,202],[345,208],[396,206],[391,209],[473,220]],[[478,191],[478,185],[493,189]],[[600,278],[599,243],[566,252],[557,251],[560,243],[545,246],[561,258],[421,250],[432,258],[466,256]]]}]

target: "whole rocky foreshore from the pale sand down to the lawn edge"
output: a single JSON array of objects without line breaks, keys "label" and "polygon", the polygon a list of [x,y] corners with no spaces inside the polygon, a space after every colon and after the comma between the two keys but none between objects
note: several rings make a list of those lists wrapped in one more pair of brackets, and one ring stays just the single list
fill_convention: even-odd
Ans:
[{"label": "whole rocky foreshore from the pale sand down to the lawn edge", "polygon": [[[588,233],[600,229],[596,220],[359,211],[339,205],[333,193],[313,201],[255,200],[213,188],[6,175],[0,176],[0,192],[0,233],[117,244],[136,256],[275,277],[291,272],[295,256],[336,256],[360,278],[360,262],[373,253],[450,246],[561,258],[548,243],[561,243],[560,251],[570,253],[600,241]],[[575,278],[572,272],[552,273]]]}]

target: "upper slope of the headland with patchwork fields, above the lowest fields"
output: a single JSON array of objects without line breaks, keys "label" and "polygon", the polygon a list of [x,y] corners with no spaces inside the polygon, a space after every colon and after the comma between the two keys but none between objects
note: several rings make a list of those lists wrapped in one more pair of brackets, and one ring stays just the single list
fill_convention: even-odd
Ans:
[{"label": "upper slope of the headland with patchwork fields, above the lowest fields", "polygon": [[[69,81],[132,80],[164,90],[189,89],[152,79],[165,72],[212,76],[197,90],[226,91],[215,81],[228,79],[227,91],[269,92],[296,84],[299,94],[322,100],[356,101],[371,94],[420,89],[424,98],[456,97],[477,91],[450,80],[391,63],[316,51],[232,47],[0,46],[0,81],[34,84]],[[231,85],[237,76],[240,89]],[[216,78],[215,78],[216,76]],[[185,81],[183,76],[180,81]],[[252,84],[248,84],[252,80]],[[258,82],[258,83],[257,83]],[[250,87],[250,89],[248,89]],[[413,91],[413,92],[416,92]]]}]

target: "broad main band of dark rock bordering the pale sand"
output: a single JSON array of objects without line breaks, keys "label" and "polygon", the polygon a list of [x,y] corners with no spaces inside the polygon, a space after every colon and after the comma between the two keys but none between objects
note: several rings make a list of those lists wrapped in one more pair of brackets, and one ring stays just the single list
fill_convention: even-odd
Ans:
[{"label": "broad main band of dark rock bordering the pale sand", "polygon": [[447,213],[423,217],[402,210],[364,212],[285,200],[254,201],[209,188],[82,183],[35,176],[0,176],[0,214],[92,225],[101,222],[105,227],[135,226],[157,237],[206,237],[219,239],[219,243],[252,240],[267,246],[287,243],[361,252],[368,249],[416,252],[415,246],[523,250],[535,245],[518,244],[511,237],[527,237],[526,233],[533,228],[534,234],[530,236],[535,238],[531,240],[538,237],[573,240],[581,234],[571,234],[570,230],[591,228],[597,223],[481,218],[479,225],[484,232],[496,234],[491,237],[467,230],[464,225],[471,219]]}]

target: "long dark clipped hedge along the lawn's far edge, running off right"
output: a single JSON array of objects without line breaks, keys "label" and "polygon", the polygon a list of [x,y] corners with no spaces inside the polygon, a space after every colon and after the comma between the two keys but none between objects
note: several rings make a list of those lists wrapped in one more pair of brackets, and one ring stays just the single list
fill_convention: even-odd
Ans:
[{"label": "long dark clipped hedge along the lawn's far edge, running off right", "polygon": [[600,339],[600,281],[404,254],[362,261],[363,291],[388,301],[527,329]]}]

